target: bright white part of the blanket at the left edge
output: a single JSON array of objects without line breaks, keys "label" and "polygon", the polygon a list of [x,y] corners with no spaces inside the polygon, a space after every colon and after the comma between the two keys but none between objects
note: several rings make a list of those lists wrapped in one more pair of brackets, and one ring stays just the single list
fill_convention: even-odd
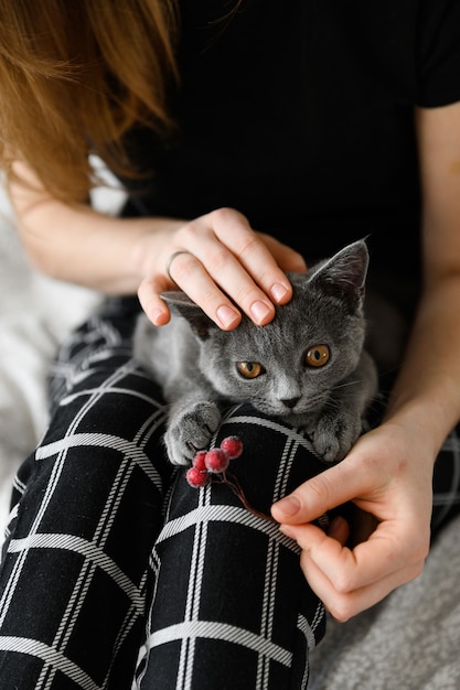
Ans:
[{"label": "bright white part of the blanket at the left edge", "polygon": [[0,533],[15,470],[45,428],[46,374],[57,343],[99,299],[29,266],[0,187]]}]

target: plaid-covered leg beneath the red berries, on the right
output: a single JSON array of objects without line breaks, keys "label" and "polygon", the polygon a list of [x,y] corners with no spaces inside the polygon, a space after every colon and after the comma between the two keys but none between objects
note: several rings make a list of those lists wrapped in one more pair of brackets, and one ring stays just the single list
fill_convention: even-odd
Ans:
[{"label": "plaid-covered leg beneath the red berries, on the right", "polygon": [[248,407],[229,411],[215,444],[233,434],[244,450],[225,477],[195,489],[176,472],[152,558],[141,688],[306,687],[324,610],[270,506],[324,465],[300,433]]}]

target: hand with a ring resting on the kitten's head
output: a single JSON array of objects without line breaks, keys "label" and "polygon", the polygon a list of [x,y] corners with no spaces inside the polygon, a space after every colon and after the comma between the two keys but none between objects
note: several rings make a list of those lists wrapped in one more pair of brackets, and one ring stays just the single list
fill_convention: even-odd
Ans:
[{"label": "hand with a ring resting on the kitten's head", "polygon": [[224,330],[238,325],[238,308],[265,325],[275,315],[274,304],[285,304],[292,295],[284,271],[306,270],[299,254],[255,233],[245,216],[232,208],[169,225],[160,237],[157,230],[154,254],[149,251],[148,235],[141,244],[146,278],[138,294],[156,325],[169,321],[161,292],[176,287]]}]

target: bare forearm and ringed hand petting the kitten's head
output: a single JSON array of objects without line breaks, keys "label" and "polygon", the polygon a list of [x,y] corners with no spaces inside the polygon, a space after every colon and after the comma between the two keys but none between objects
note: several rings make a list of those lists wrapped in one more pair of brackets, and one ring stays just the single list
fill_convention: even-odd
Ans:
[{"label": "bare forearm and ringed hand petting the kitten's head", "polygon": [[[31,182],[34,188],[11,183],[10,195],[32,262],[55,278],[107,293],[137,291],[156,325],[170,319],[161,293],[178,285],[224,330],[237,326],[242,311],[265,325],[275,304],[292,294],[285,271],[306,268],[296,251],[256,233],[233,208],[192,220],[113,218],[61,203]],[[173,277],[171,257],[178,257]]]}]

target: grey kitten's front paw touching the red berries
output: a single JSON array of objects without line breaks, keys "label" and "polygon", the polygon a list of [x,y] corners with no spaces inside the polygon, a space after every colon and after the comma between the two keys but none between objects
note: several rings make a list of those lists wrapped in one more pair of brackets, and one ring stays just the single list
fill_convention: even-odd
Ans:
[{"label": "grey kitten's front paw touching the red berries", "polygon": [[221,412],[214,402],[197,402],[192,409],[175,414],[164,434],[170,461],[189,465],[196,451],[206,448],[221,423]]}]

